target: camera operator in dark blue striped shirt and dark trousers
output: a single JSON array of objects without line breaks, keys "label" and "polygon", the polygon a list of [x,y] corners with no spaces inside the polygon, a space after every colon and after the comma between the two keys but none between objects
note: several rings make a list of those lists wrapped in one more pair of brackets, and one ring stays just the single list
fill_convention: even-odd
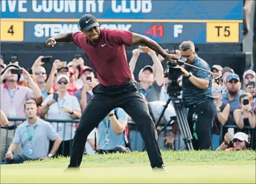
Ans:
[{"label": "camera operator in dark blue striped shirt and dark trousers", "polygon": [[[210,71],[208,63],[196,54],[194,43],[184,41],[179,49],[187,63]],[[188,123],[193,135],[193,147],[195,150],[212,149],[212,125],[216,106],[211,92],[211,74],[193,67],[177,68],[181,69],[183,76],[183,101],[185,107],[189,108]]]}]

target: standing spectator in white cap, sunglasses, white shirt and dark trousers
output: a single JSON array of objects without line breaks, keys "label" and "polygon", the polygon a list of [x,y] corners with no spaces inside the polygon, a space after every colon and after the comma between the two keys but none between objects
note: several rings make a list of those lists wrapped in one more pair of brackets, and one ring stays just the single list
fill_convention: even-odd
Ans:
[{"label": "standing spectator in white cap, sunglasses, white shirt and dark trousers", "polygon": [[[57,77],[56,88],[59,98],[56,102],[53,99],[53,94],[48,95],[42,103],[43,107],[39,110],[40,117],[46,115],[48,119],[80,119],[81,108],[77,98],[68,93],[69,84],[70,80],[67,75],[61,74]],[[69,156],[75,132],[75,123],[52,123],[52,125],[63,140],[57,154]],[[50,143],[51,146],[52,143]],[[64,147],[64,153],[62,152],[62,147]]]}]

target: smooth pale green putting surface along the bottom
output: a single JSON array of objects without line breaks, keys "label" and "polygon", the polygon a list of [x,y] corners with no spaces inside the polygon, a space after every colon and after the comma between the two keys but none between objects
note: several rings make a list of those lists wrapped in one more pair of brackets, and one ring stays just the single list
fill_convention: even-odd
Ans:
[{"label": "smooth pale green putting surface along the bottom", "polygon": [[171,174],[152,173],[150,166],[128,165],[81,167],[76,174],[64,173],[58,162],[44,166],[2,165],[4,183],[256,183],[255,160],[223,163],[166,163]]}]

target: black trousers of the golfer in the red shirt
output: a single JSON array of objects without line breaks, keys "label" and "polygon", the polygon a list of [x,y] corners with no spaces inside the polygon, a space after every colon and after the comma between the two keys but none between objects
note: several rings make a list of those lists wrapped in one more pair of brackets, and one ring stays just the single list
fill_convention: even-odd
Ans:
[{"label": "black trousers of the golfer in the red shirt", "polygon": [[158,135],[149,109],[132,80],[119,86],[98,85],[92,89],[93,96],[88,102],[73,138],[70,165],[79,167],[82,161],[87,136],[114,108],[122,108],[138,124],[145,142],[151,167],[163,165],[158,147]]}]

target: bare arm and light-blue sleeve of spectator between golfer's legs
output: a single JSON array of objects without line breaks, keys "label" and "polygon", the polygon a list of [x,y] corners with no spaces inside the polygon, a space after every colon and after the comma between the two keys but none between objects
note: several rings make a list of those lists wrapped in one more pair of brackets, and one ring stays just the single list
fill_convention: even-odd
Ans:
[{"label": "bare arm and light-blue sleeve of spectator between golfer's legs", "polygon": [[115,131],[116,134],[120,135],[125,131],[128,122],[128,115],[125,113],[125,110],[123,109],[118,109],[117,115],[118,119],[113,111],[113,116],[110,116],[109,119],[112,129]]}]

